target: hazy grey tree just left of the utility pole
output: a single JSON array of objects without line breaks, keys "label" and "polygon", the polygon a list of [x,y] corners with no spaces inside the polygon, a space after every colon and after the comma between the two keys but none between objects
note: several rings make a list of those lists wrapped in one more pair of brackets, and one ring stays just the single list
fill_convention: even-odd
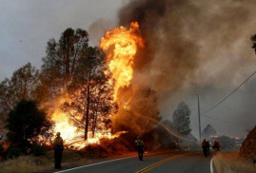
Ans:
[{"label": "hazy grey tree just left of the utility pole", "polygon": [[190,109],[184,102],[181,102],[173,112],[173,124],[182,135],[187,135],[191,131],[189,115]]}]

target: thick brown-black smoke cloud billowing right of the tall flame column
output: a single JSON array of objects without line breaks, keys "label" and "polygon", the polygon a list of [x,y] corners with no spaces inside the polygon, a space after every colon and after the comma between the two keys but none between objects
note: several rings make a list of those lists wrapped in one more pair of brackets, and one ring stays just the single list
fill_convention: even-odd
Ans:
[{"label": "thick brown-black smoke cloud billowing right of the tall flame column", "polygon": [[139,22],[146,42],[132,83],[156,91],[162,115],[171,114],[163,108],[168,99],[187,88],[190,98],[238,86],[254,68],[255,8],[253,0],[130,1],[119,12],[120,25]]}]

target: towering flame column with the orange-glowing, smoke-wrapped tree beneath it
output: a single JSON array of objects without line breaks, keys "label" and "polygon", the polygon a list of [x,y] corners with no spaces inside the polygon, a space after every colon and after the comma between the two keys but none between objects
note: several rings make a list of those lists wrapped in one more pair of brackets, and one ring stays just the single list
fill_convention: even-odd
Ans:
[{"label": "towering flame column with the orange-glowing, smoke-wrapped tree beneath it", "polygon": [[131,22],[129,29],[121,26],[108,30],[100,47],[107,53],[108,69],[114,82],[113,97],[119,107],[111,118],[113,131],[125,129],[143,133],[149,130],[156,124],[152,120],[160,120],[155,92],[132,84],[135,56],[138,48],[144,48],[139,24]]}]

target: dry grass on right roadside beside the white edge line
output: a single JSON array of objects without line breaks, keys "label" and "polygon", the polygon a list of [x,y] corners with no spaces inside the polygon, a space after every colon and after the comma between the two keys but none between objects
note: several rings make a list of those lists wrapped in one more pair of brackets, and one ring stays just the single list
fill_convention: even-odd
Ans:
[{"label": "dry grass on right roadside beside the white edge line", "polygon": [[213,160],[214,173],[255,173],[256,166],[239,152],[219,153]]}]

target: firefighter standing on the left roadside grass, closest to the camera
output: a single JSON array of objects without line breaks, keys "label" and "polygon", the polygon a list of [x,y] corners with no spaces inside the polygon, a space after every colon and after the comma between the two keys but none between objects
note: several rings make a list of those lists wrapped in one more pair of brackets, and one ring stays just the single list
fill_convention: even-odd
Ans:
[{"label": "firefighter standing on the left roadside grass, closest to the camera", "polygon": [[54,158],[55,158],[55,169],[61,169],[61,158],[63,151],[63,139],[61,137],[61,133],[57,132],[56,138],[53,143],[54,149]]}]

